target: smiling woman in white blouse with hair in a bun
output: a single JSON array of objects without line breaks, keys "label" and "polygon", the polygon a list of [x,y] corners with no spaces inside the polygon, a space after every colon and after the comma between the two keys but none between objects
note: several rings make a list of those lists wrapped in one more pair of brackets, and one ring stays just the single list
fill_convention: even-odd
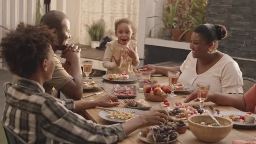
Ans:
[{"label": "smiling woman in white blouse with hair in a bun", "polygon": [[145,65],[139,71],[166,75],[167,71],[176,70],[181,72],[181,83],[196,85],[205,82],[211,84],[211,92],[243,93],[243,77],[238,64],[227,54],[217,51],[219,40],[225,37],[226,27],[201,24],[192,33],[189,45],[192,51],[181,66]]}]

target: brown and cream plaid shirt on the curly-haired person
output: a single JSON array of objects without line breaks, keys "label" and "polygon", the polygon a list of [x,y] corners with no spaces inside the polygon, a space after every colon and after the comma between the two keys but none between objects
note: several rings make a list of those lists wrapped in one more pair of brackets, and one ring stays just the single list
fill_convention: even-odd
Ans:
[{"label": "brown and cream plaid shirt on the curly-haired person", "polygon": [[56,99],[37,82],[19,78],[8,89],[3,123],[35,144],[115,143],[125,138],[120,124],[99,125],[72,112],[72,99]]}]

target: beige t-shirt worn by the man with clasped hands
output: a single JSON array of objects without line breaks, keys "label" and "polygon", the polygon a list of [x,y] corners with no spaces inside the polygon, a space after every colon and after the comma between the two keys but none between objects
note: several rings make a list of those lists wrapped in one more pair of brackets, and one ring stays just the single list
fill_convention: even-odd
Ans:
[{"label": "beige t-shirt worn by the man with clasped hands", "polygon": [[[73,80],[73,77],[67,73],[67,71],[62,67],[61,61],[58,56],[54,54],[55,68],[53,71],[52,79],[44,83],[45,92],[50,93],[52,88],[59,91],[64,85]],[[13,85],[17,83],[18,76],[13,76]]]}]

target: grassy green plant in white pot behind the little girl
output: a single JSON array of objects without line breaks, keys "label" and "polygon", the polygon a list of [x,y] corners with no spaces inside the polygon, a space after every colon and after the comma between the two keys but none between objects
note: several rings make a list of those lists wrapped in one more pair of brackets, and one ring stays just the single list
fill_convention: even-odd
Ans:
[{"label": "grassy green plant in white pot behind the little girl", "polygon": [[99,41],[101,40],[101,37],[104,35],[105,32],[104,20],[100,19],[96,22],[93,21],[93,24],[91,24],[91,26],[85,24],[85,27],[89,35],[91,36],[91,48],[99,47]]}]

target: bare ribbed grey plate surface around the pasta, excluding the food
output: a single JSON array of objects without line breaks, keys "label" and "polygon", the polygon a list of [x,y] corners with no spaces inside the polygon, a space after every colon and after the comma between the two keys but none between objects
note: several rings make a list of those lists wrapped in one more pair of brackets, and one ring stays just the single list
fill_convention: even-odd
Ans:
[{"label": "bare ribbed grey plate surface around the pasta, excluding the food", "polygon": [[[135,115],[142,115],[145,113],[144,111],[139,110],[139,109],[128,109],[128,108],[113,108],[113,109],[115,109],[119,112],[129,112],[129,113],[134,112],[133,114],[135,114]],[[125,120],[111,119],[111,118],[107,117],[107,115],[110,113],[111,113],[111,111],[103,110],[103,111],[99,112],[99,117],[101,117],[104,120],[115,122],[115,123],[124,123],[125,122]]]}]

